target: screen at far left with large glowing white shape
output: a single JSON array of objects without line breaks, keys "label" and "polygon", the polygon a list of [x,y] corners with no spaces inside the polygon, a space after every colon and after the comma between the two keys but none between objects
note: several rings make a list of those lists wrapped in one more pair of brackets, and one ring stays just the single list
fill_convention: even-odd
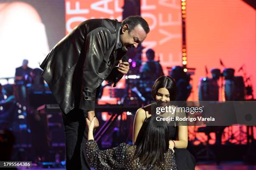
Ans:
[{"label": "screen at far left with large glowing white shape", "polygon": [[14,77],[23,59],[38,68],[64,36],[64,0],[0,0],[0,78]]}]

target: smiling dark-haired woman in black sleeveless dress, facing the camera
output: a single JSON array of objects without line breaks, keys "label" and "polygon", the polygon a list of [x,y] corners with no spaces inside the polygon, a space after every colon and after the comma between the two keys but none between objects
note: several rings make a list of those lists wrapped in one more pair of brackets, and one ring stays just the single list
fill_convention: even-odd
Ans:
[{"label": "smiling dark-haired woman in black sleeveless dress, facing the camera", "polygon": [[[152,98],[154,103],[146,105],[137,110],[133,123],[133,143],[138,140],[138,134],[141,132],[143,122],[148,117],[156,115],[156,107],[170,106],[175,110],[175,105],[171,103],[176,100],[177,87],[174,79],[169,76],[159,77],[152,87]],[[184,112],[162,112],[161,117],[185,117]],[[174,119],[175,120],[175,119]],[[189,153],[187,148],[188,131],[186,122],[167,121],[168,123],[168,141],[169,148],[174,149],[177,169],[179,170],[194,170],[195,158]],[[156,140],[152,138],[151,140]]]}]

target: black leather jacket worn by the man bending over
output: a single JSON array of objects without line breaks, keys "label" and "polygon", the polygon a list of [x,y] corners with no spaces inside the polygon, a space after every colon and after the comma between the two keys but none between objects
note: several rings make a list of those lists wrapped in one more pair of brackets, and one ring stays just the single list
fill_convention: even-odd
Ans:
[{"label": "black leather jacket worn by the man bending over", "polygon": [[97,87],[113,77],[113,67],[125,54],[120,52],[120,29],[118,20],[86,20],[46,56],[42,75],[62,112],[94,110]]}]

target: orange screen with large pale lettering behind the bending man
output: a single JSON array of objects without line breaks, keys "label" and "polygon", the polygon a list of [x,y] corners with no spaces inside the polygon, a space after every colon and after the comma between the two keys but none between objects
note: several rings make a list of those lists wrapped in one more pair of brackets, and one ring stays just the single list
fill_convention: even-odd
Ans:
[{"label": "orange screen with large pale lettering behind the bending man", "polygon": [[[129,0],[66,0],[66,33],[84,20],[92,18],[110,18],[122,21],[124,3]],[[133,10],[133,9],[130,9]],[[141,0],[141,16],[147,20],[150,32],[142,43],[142,60],[145,52],[152,48],[156,52],[155,60],[160,60],[165,75],[166,67],[181,64],[182,22],[180,0]],[[118,88],[124,88],[124,80],[118,82]],[[109,97],[109,88],[105,87],[101,101],[115,102]]]}]

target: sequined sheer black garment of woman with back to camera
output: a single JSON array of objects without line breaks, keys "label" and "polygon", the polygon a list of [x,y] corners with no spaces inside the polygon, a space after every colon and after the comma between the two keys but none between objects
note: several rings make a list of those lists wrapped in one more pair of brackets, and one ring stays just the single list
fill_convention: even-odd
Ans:
[{"label": "sequined sheer black garment of woman with back to camera", "polygon": [[[116,148],[100,150],[95,140],[88,140],[85,153],[91,167],[96,170],[155,170],[154,167],[142,167],[138,158],[133,160],[136,146],[126,143]],[[165,153],[166,162],[157,170],[177,170],[174,153],[168,150]]]}]

